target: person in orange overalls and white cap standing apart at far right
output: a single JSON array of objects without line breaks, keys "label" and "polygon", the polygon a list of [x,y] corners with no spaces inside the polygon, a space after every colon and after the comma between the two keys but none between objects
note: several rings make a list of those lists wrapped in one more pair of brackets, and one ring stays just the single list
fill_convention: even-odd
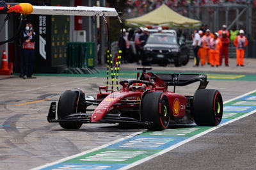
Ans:
[{"label": "person in orange overalls and white cap standing apart at far right", "polygon": [[236,46],[236,66],[244,66],[244,50],[248,45],[248,40],[244,36],[244,31],[241,29],[239,35],[236,36],[234,40],[234,45]]}]

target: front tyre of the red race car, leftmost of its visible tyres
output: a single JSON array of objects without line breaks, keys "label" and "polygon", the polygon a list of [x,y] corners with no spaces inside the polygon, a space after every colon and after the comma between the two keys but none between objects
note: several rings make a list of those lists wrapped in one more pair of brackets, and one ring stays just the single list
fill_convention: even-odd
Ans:
[{"label": "front tyre of the red race car, leftmost of its visible tyres", "polygon": [[[58,119],[76,113],[79,104],[79,91],[67,90],[64,91],[58,102]],[[74,122],[60,122],[61,127],[66,129],[79,129],[83,123],[79,121]]]}]

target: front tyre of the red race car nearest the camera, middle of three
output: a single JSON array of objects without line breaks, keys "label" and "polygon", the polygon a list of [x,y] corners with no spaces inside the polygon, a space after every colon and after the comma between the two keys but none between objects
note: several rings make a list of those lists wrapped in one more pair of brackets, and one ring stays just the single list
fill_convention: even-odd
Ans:
[{"label": "front tyre of the red race car nearest the camera, middle of three", "polygon": [[170,108],[166,96],[162,92],[146,93],[141,102],[143,121],[151,121],[148,130],[164,130],[170,121]]}]

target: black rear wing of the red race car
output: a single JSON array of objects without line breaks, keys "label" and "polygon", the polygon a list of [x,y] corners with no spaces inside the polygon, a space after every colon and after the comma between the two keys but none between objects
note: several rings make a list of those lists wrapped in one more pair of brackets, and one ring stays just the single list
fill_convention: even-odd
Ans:
[{"label": "black rear wing of the red race car", "polygon": [[205,89],[208,84],[205,74],[152,73],[152,75],[166,82],[168,86],[186,86],[199,81],[198,89]]}]

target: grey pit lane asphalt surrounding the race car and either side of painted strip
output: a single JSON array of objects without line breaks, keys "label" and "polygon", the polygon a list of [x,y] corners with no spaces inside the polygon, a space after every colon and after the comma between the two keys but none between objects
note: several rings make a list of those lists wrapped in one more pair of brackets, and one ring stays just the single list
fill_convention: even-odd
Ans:
[{"label": "grey pit lane asphalt surrounding the race car and either side of painted strip", "polygon": [[[140,131],[108,124],[63,130],[58,123],[47,123],[49,105],[61,92],[77,87],[95,96],[105,81],[99,77],[38,76],[23,80],[0,76],[0,169],[41,166]],[[211,80],[208,86],[219,89],[224,101],[255,87],[255,81],[234,80]],[[177,92],[193,94],[195,88],[196,84],[191,84]],[[255,169],[255,120],[252,114],[132,169]]]}]

